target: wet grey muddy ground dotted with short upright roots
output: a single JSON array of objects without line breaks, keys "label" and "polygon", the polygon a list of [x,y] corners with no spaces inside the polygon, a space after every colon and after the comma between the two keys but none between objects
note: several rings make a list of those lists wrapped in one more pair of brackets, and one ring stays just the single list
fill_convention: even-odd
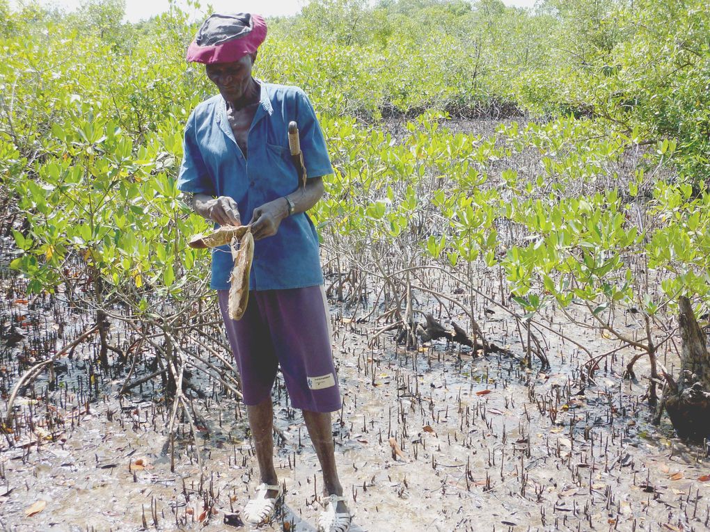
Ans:
[{"label": "wet grey muddy ground dotted with short upright roots", "polygon": [[[9,310],[28,319],[42,311],[20,298]],[[674,439],[667,422],[650,425],[639,399],[645,383],[621,379],[633,353],[616,353],[596,384],[583,386],[583,355],[554,336],[547,338],[552,369],[542,372],[444,341],[406,350],[394,333],[369,346],[374,323],[343,318],[339,304],[331,310],[344,394],[333,434],[354,530],[709,529],[709,462],[700,447]],[[512,331],[506,336],[503,316],[486,316],[491,340],[523,351]],[[45,326],[52,330],[50,321]],[[578,332],[595,352],[607,347]],[[4,367],[25,342],[4,349]],[[87,387],[92,356],[92,344],[82,345],[60,361],[65,386],[50,392],[45,378],[20,400],[26,430],[11,435],[13,447],[0,444],[4,530],[239,530],[224,514],[239,511],[258,484],[243,406],[205,379],[207,397],[192,401],[199,446],[182,420],[171,472],[158,386],[120,401],[121,375],[100,387],[89,379]],[[314,530],[315,453],[281,381],[274,403],[288,512],[262,528]]]}]

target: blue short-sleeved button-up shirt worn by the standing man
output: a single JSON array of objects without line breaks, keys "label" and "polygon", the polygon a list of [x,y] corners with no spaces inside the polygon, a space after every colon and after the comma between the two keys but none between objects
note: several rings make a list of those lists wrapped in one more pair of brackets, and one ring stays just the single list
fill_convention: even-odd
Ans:
[{"label": "blue short-sleeved button-up shirt worn by the standing man", "polygon": [[[247,146],[241,153],[219,94],[199,104],[187,119],[184,156],[178,189],[212,196],[230,196],[243,223],[254,209],[294,192],[298,174],[288,148],[288,123],[295,120],[309,178],[332,174],[323,133],[313,107],[297,87],[259,82],[261,104],[256,110]],[[212,282],[229,289],[234,262],[229,246],[212,250]],[[249,277],[251,290],[310,287],[322,284],[318,234],[307,214],[285,218],[278,232],[256,241]]]}]

